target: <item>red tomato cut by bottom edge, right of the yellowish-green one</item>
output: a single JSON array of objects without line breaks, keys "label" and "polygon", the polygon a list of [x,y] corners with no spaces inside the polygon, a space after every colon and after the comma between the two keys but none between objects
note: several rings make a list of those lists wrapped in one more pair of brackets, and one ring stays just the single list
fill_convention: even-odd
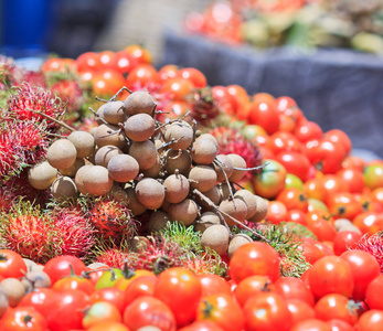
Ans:
[{"label": "red tomato cut by bottom edge, right of the yellowish-green one", "polygon": [[170,308],[152,296],[142,296],[125,308],[124,324],[130,331],[151,325],[161,331],[175,331],[177,322]]}]

